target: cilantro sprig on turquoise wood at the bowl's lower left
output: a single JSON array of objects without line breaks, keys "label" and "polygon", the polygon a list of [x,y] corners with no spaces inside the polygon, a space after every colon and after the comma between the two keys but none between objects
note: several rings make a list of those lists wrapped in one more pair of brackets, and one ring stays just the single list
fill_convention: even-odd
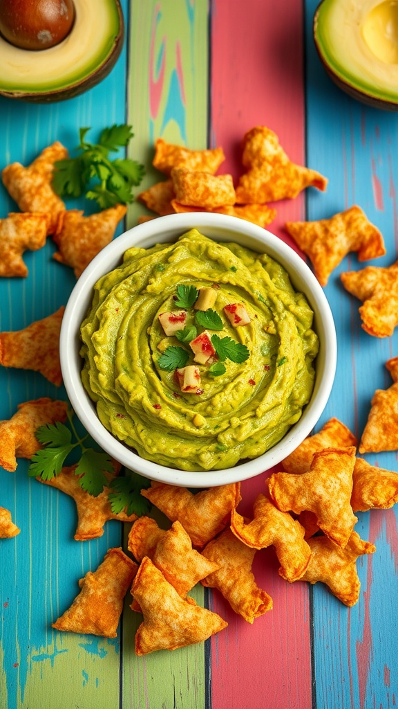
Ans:
[{"label": "cilantro sprig on turquoise wood at the bowl's lower left", "polygon": [[51,480],[59,475],[69,454],[80,447],[81,457],[74,474],[79,476],[81,488],[97,497],[103,491],[104,485],[108,484],[105,472],[113,471],[112,461],[107,453],[84,445],[89,435],[79,436],[72,423],[71,411],[67,412],[67,418],[72,430],[57,421],[55,424],[47,423],[45,426],[40,426],[35,432],[43,447],[33,455],[28,475],[40,477],[42,480]]}]

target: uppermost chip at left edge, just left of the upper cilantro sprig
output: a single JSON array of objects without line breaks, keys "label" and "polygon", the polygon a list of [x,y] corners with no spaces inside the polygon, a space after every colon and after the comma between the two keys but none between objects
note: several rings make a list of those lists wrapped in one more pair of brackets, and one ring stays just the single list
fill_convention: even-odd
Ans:
[{"label": "uppermost chip at left edge, just left of the upper cilantro sprig", "polygon": [[23,212],[44,212],[48,215],[47,232],[55,232],[59,213],[65,205],[52,189],[52,172],[57,160],[66,160],[68,151],[61,143],[45,147],[29,165],[13,162],[1,173],[4,186]]}]

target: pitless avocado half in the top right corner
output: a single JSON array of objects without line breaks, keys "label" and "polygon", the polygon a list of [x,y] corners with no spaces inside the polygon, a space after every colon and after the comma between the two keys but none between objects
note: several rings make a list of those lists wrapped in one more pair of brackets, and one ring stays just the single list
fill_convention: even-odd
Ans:
[{"label": "pitless avocado half in the top right corner", "polygon": [[340,89],[374,108],[398,111],[398,0],[323,0],[314,40]]}]

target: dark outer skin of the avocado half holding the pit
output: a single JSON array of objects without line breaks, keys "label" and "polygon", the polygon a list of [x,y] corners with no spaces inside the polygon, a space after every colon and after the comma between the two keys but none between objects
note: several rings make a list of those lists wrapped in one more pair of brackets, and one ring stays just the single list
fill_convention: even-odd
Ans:
[{"label": "dark outer skin of the avocado half holding the pit", "polygon": [[[119,19],[119,34],[115,38],[115,43],[113,48],[106,58],[105,62],[101,64],[98,69],[89,74],[88,77],[81,79],[80,82],[76,82],[72,86],[66,86],[63,89],[54,89],[54,91],[43,91],[35,92],[30,94],[28,91],[1,91],[0,96],[4,96],[6,99],[18,99],[18,101],[26,101],[30,104],[52,104],[56,101],[67,101],[67,99],[73,99],[74,96],[79,96],[79,94],[84,94],[85,91],[89,91],[93,86],[99,84],[106,76],[112,71],[115,63],[120,57],[120,52],[123,48],[123,40],[125,38],[125,23],[123,19],[123,11],[120,5],[120,0],[114,0],[116,9],[118,10]],[[45,52],[45,50],[42,50]]]}]

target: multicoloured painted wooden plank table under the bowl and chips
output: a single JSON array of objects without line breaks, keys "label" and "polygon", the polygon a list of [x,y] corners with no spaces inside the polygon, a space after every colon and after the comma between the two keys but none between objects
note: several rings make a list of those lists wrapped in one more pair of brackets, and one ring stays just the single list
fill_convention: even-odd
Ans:
[{"label": "multicoloured painted wooden plank table under the bowl and chips", "polygon": [[[93,0],[99,1],[99,0]],[[132,123],[131,153],[147,166],[144,186],[159,179],[152,145],[163,136],[202,148],[222,145],[223,172],[241,172],[240,142],[254,125],[268,125],[288,155],[329,177],[326,193],[307,190],[278,203],[271,230],[289,242],[285,220],[327,218],[359,204],[397,258],[398,115],[366,108],[326,77],[312,42],[317,0],[123,0],[125,49],[113,72],[88,93],[64,103],[34,106],[0,101],[0,166],[28,164],[54,140],[73,148],[81,126],[93,135],[113,123]],[[80,206],[69,202],[68,206]],[[89,208],[85,204],[84,208]],[[0,216],[15,209],[0,191]],[[144,209],[134,204],[125,226]],[[118,233],[123,230],[120,226]],[[72,269],[52,259],[51,240],[27,252],[26,279],[1,279],[0,330],[18,330],[66,303]],[[339,341],[337,376],[317,426],[337,416],[360,435],[377,388],[391,379],[385,362],[398,354],[398,333],[377,339],[360,328],[358,301],[343,291],[339,273],[359,267],[346,257],[325,289]],[[22,401],[65,392],[39,374],[0,371],[0,418]],[[397,454],[367,457],[398,470]],[[125,609],[116,640],[52,630],[78,592],[77,580],[96,569],[109,547],[123,542],[110,522],[101,539],[75,542],[74,503],[27,476],[0,471],[0,504],[21,533],[0,540],[1,709],[390,709],[398,703],[397,511],[359,513],[356,530],[375,543],[358,560],[360,599],[353,608],[322,584],[288,584],[278,576],[273,549],[256,557],[256,580],[273,610],[254,625],[227,608],[218,593],[195,589],[198,603],[229,626],[176,652],[135,657],[137,615]],[[241,508],[263,490],[264,476],[242,486]]]}]

